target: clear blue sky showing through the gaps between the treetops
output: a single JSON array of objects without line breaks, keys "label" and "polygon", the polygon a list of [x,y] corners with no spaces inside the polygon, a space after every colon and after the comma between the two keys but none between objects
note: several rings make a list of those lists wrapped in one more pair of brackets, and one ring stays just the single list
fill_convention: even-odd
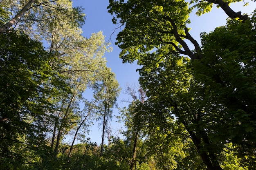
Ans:
[{"label": "clear blue sky showing through the gaps between the treetops", "polygon": [[[251,13],[256,9],[256,3],[245,0],[245,2],[249,2],[250,4],[246,7],[243,7],[244,2],[239,2],[235,4],[231,4],[231,8],[234,11],[241,11],[242,13]],[[82,27],[83,36],[90,38],[92,33],[97,33],[99,31],[103,31],[103,35],[106,36],[105,41],[110,41],[113,47],[113,51],[111,53],[106,53],[105,57],[108,60],[107,66],[112,69],[112,71],[116,74],[117,81],[119,82],[122,89],[125,89],[125,84],[137,84],[139,79],[139,73],[136,72],[136,69],[139,68],[137,63],[133,64],[123,64],[122,60],[119,58],[119,53],[121,50],[118,46],[115,45],[116,35],[121,29],[117,29],[117,25],[112,24],[112,16],[108,13],[108,0],[73,0],[73,6],[82,6],[84,8],[84,13],[86,15],[85,24]],[[188,27],[191,28],[191,35],[193,38],[200,42],[200,33],[201,32],[210,32],[213,31],[217,26],[225,25],[227,15],[222,11],[222,9],[218,9],[216,5],[213,6],[213,9],[210,13],[206,13],[200,17],[194,15],[195,11],[192,12],[191,24]],[[115,31],[115,32],[114,32]],[[113,33],[114,32],[114,33]],[[118,104],[119,107],[127,106],[127,103],[122,103],[121,99],[127,99],[129,96],[125,95],[121,92]],[[118,110],[114,110],[114,115],[118,115]],[[112,120],[112,128],[113,132],[121,128],[120,124],[117,124],[115,121],[115,117]],[[98,127],[98,123],[96,123],[92,127],[92,132],[88,136],[91,138],[92,142],[97,142],[97,144],[101,143],[101,130]],[[106,143],[107,139],[105,139]]]}]

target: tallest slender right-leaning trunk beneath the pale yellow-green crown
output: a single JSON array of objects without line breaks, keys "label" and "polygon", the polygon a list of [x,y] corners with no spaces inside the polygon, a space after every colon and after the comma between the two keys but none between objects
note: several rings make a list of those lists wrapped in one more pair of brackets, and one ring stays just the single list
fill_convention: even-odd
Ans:
[{"label": "tallest slender right-leaning trunk beneath the pale yellow-green crown", "polygon": [[64,124],[64,122],[65,122],[65,119],[66,119],[66,117],[67,117],[69,111],[70,111],[70,106],[71,106],[71,104],[73,103],[74,98],[76,97],[77,91],[78,91],[78,88],[77,88],[76,91],[74,92],[74,94],[73,94],[73,96],[72,96],[72,99],[70,100],[70,103],[69,103],[68,106],[67,106],[67,110],[66,110],[66,112],[65,112],[65,115],[64,115],[64,117],[63,117],[63,119],[62,119],[62,121],[61,121],[61,126],[60,126],[59,131],[58,131],[58,136],[57,136],[57,140],[56,140],[56,146],[55,146],[55,149],[54,149],[54,158],[55,158],[55,159],[57,158],[57,155],[58,155],[58,147],[59,147],[59,145],[60,145],[61,134],[62,134],[62,132],[63,132],[63,124]]}]

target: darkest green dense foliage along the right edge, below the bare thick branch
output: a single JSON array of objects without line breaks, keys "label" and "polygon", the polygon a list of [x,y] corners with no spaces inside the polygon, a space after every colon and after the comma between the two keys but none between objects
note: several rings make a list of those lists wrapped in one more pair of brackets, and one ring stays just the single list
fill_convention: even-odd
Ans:
[{"label": "darkest green dense foliage along the right edge, below the bare thick branch", "polygon": [[[252,17],[252,21],[254,16]],[[204,58],[195,61],[210,138],[232,142],[245,164],[255,167],[256,30],[247,20],[229,20],[212,33],[202,33]],[[209,114],[210,113],[210,114]],[[244,157],[250,157],[244,159]]]}]

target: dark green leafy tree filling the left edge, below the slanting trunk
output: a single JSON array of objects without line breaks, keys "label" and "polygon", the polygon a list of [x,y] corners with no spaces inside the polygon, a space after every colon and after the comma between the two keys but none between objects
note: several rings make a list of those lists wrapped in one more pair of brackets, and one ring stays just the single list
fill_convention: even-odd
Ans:
[{"label": "dark green leafy tree filling the left edge, below the slanting trunk", "polygon": [[49,99],[68,90],[58,73],[61,60],[45,51],[41,43],[22,31],[2,34],[0,41],[0,164],[11,169],[27,161],[20,159],[25,153],[19,152],[20,148],[37,155],[47,150],[49,117],[45,113],[55,109]]}]

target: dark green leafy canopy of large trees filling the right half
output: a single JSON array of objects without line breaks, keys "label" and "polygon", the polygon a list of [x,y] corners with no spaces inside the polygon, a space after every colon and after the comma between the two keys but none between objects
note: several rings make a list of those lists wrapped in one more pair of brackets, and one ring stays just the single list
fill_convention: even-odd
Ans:
[{"label": "dark green leafy canopy of large trees filling the right half", "polygon": [[[176,159],[166,159],[168,153],[178,152],[166,141],[179,145],[183,139],[169,135],[175,132],[175,122],[184,125],[207,169],[255,169],[255,17],[235,13],[221,0],[208,2],[195,4],[198,14],[216,3],[232,19],[212,33],[203,33],[202,46],[186,28],[191,9],[185,1],[110,0],[108,8],[116,15],[113,22],[124,25],[116,43],[122,50],[120,58],[137,60],[142,66],[139,81],[148,101],[140,117],[151,130],[147,132],[150,148],[162,149],[157,153],[163,156],[159,165],[174,168],[182,152],[193,155],[184,149]],[[201,163],[193,168],[203,169]]]}]

